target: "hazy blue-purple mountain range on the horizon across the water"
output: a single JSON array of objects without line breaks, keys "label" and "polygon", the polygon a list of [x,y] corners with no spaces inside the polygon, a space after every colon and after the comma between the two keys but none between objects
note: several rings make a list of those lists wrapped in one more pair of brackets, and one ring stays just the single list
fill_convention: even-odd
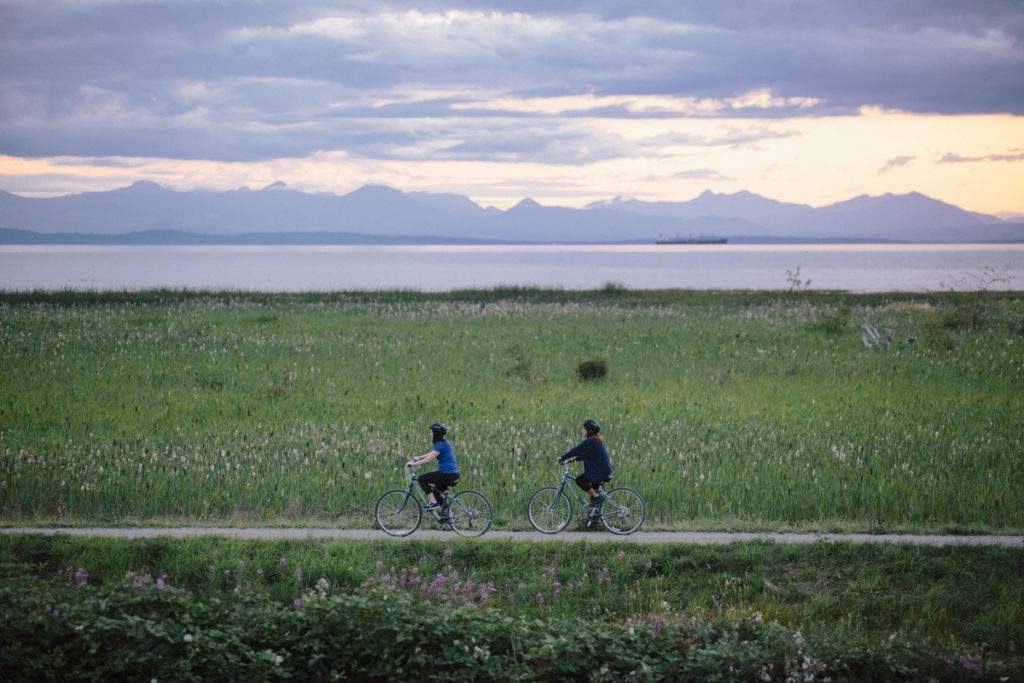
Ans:
[{"label": "hazy blue-purple mountain range on the horizon across the water", "polygon": [[76,242],[82,236],[110,242],[117,240],[114,236],[142,233],[148,237],[135,241],[151,244],[188,242],[188,234],[211,244],[610,243],[650,242],[659,234],[757,242],[1024,241],[1022,223],[919,193],[861,196],[818,208],[749,191],[708,190],[684,202],[615,198],[573,209],[524,199],[501,210],[462,195],[403,193],[385,185],[365,185],[346,195],[303,193],[284,182],[260,190],[178,191],[144,180],[110,191],[53,198],[0,190],[0,228],[8,228],[0,233],[0,241],[8,243],[32,242],[26,237],[32,233],[50,236],[41,239],[49,243],[65,236]]}]

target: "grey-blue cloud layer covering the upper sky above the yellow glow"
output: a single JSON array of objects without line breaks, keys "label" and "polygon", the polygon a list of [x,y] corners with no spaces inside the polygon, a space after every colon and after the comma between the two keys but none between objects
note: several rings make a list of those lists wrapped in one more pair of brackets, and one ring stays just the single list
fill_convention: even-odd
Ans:
[{"label": "grey-blue cloud layer covering the upper sky above the yellow glow", "polygon": [[752,118],[1024,114],[1019,2],[723,5],[0,0],[0,153],[586,163],[629,145],[574,116],[676,115],[560,113],[538,138],[543,114],[452,109],[588,93],[820,100],[709,113]]}]

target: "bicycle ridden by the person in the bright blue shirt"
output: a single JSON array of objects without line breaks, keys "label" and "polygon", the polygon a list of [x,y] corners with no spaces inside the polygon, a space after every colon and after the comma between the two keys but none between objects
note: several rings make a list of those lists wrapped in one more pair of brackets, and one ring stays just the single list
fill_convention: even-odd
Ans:
[{"label": "bicycle ridden by the person in the bright blue shirt", "polygon": [[[374,507],[374,518],[377,525],[390,536],[409,536],[420,527],[423,519],[423,508],[427,506],[427,498],[417,485],[419,477],[407,465],[409,485],[404,489],[389,490],[380,497]],[[437,496],[433,484],[430,487]],[[419,497],[414,495],[419,494]],[[477,490],[464,490],[459,494],[445,495],[440,508],[430,510],[442,530],[454,530],[459,536],[483,536],[490,528],[494,519],[494,509],[490,501]]]}]

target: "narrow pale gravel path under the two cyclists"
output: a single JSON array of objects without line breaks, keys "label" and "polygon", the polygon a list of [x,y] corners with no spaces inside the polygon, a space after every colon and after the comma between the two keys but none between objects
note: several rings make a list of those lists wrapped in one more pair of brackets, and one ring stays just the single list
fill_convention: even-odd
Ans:
[{"label": "narrow pale gravel path under the two cyclists", "polygon": [[[176,539],[195,538],[201,536],[226,537],[231,539],[253,540],[307,540],[307,539],[339,539],[339,540],[393,540],[383,531],[365,528],[228,528],[207,526],[184,527],[83,527],[83,528],[2,528],[0,533],[42,533],[53,536],[66,533],[70,536],[101,536],[120,539],[155,539],[170,537]],[[410,539],[416,540],[449,540],[459,538],[450,531],[436,529],[420,529]],[[489,531],[481,541],[557,541],[575,542],[590,541],[594,543],[691,543],[700,546],[736,543],[741,541],[770,541],[784,544],[808,544],[819,541],[836,543],[890,543],[911,546],[1004,546],[1009,548],[1024,548],[1024,536],[918,536],[911,533],[750,533],[731,531],[638,531],[632,536],[613,536],[611,533],[563,531],[555,536],[538,533],[537,531]]]}]

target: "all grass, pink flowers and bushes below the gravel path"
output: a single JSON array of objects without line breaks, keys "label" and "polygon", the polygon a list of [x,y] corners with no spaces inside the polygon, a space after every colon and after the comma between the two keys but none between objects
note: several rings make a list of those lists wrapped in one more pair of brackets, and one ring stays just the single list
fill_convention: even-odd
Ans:
[{"label": "all grass, pink flowers and bushes below the gravel path", "polygon": [[5,680],[1000,680],[1022,625],[998,548],[0,545]]}]

